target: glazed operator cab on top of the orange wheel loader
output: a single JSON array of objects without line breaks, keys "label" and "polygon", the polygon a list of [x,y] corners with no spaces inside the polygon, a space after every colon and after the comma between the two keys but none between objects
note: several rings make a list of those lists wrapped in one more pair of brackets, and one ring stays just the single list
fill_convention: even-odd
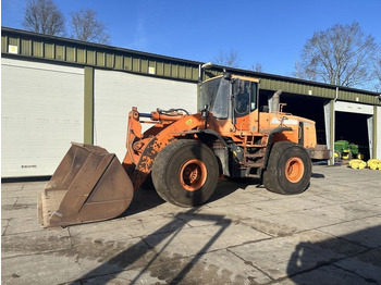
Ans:
[{"label": "glazed operator cab on top of the orange wheel loader", "polygon": [[201,84],[198,110],[207,109],[220,120],[248,115],[258,106],[258,80],[225,74]]}]

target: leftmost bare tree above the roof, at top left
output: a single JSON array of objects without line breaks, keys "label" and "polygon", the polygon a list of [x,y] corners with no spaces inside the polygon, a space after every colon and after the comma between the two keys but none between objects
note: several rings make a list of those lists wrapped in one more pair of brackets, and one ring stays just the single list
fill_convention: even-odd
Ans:
[{"label": "leftmost bare tree above the roof, at top left", "polygon": [[52,0],[29,0],[23,27],[36,33],[64,36],[65,17]]}]

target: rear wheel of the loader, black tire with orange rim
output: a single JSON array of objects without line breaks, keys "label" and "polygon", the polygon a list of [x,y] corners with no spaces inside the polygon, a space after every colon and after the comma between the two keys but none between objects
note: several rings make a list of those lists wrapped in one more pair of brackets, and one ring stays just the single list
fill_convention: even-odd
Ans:
[{"label": "rear wheel of the loader, black tire with orange rim", "polygon": [[273,193],[300,194],[309,186],[312,163],[305,148],[291,142],[273,145],[263,172],[263,185]]}]

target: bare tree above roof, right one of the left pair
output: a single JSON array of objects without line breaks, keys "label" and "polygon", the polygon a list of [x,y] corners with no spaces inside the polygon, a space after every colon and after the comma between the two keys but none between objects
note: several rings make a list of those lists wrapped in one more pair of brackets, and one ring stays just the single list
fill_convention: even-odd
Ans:
[{"label": "bare tree above roof, right one of the left pair", "polygon": [[91,9],[81,9],[72,15],[73,37],[84,41],[109,44],[110,34]]}]

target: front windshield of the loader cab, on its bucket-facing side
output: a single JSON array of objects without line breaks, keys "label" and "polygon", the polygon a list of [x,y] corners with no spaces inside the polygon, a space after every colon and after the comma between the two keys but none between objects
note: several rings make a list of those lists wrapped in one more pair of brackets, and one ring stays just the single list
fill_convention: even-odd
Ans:
[{"label": "front windshield of the loader cab, on its bucket-facing side", "polygon": [[204,83],[200,87],[200,97],[198,100],[198,109],[209,107],[209,111],[218,119],[226,119],[229,116],[229,80],[216,78]]}]

